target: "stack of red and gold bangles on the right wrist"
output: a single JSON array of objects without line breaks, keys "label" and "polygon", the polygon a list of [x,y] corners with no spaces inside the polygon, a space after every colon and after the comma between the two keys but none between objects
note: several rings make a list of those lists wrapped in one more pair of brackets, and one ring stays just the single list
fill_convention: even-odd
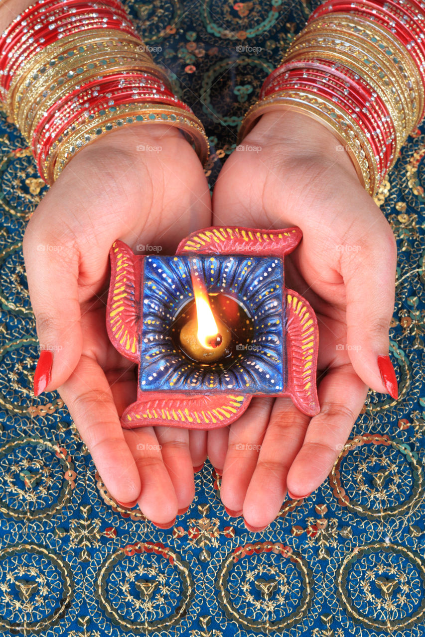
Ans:
[{"label": "stack of red and gold bangles on the right wrist", "polygon": [[242,122],[299,111],[344,145],[370,194],[425,113],[425,3],[328,0],[311,15]]}]

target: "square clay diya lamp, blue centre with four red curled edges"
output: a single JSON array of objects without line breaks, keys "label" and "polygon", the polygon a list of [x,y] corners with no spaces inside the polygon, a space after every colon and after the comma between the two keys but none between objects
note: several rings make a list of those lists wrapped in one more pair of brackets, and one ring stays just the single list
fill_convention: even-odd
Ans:
[{"label": "square clay diya lamp, blue centre with four red curled edges", "polygon": [[[302,412],[318,413],[317,320],[284,283],[284,256],[300,240],[298,228],[214,227],[193,233],[174,256],[134,255],[114,243],[108,335],[139,366],[123,427],[223,427],[253,395],[290,396]],[[196,317],[194,270],[227,331],[216,360],[193,358],[182,345]]]}]

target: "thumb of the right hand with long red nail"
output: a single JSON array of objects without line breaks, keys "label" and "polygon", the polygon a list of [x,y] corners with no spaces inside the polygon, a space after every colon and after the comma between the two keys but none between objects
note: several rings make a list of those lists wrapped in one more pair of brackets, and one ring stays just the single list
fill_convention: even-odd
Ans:
[{"label": "thumb of the right hand with long red nail", "polygon": [[377,225],[373,240],[360,240],[357,245],[354,241],[357,249],[341,259],[347,295],[347,350],[355,372],[366,385],[397,399],[396,374],[389,358],[397,247],[383,216]]}]

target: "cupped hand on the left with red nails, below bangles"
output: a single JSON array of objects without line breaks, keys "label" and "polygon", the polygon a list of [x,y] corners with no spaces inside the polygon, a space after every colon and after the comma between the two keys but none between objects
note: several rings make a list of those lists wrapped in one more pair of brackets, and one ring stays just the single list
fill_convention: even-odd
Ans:
[{"label": "cupped hand on the left with red nails, below bangles", "polygon": [[[112,243],[174,254],[211,224],[202,166],[177,129],[131,126],[80,150],[27,225],[24,259],[40,349],[53,354],[36,391],[59,390],[103,482],[123,504],[167,524],[190,505],[204,432],[123,431],[135,400],[135,366],[108,340],[105,307]],[[142,249],[142,248],[141,248]],[[140,252],[140,250],[139,250]],[[47,384],[46,384],[47,382]]]}]

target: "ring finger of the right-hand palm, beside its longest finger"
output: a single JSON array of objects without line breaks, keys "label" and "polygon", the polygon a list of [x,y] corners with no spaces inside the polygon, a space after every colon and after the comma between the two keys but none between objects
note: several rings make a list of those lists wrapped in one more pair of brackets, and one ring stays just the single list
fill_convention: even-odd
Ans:
[{"label": "ring finger of the right-hand palm, beside its longest finger", "polygon": [[221,500],[229,515],[242,514],[272,403],[272,398],[253,398],[246,412],[230,427],[220,489]]}]

